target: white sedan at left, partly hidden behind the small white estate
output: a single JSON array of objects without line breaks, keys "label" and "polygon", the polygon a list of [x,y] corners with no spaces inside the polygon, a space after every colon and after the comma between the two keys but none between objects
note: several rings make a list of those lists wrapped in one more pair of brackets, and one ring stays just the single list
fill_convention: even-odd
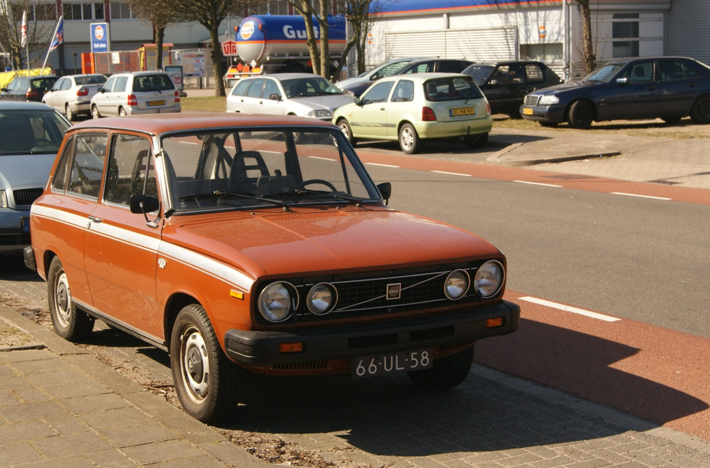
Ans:
[{"label": "white sedan at left, partly hidden behind the small white estate", "polygon": [[42,97],[42,102],[54,107],[70,121],[77,115],[89,115],[91,98],[104,86],[107,77],[101,74],[69,75],[57,80]]}]

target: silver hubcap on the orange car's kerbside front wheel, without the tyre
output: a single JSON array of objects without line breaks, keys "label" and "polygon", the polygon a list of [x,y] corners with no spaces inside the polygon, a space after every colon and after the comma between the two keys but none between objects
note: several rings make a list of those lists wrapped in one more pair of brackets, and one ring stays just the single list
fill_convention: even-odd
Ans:
[{"label": "silver hubcap on the orange car's kerbside front wheel, without the tyre", "polygon": [[209,388],[209,357],[202,334],[195,327],[187,327],[183,332],[180,354],[187,395],[195,403],[201,404]]}]

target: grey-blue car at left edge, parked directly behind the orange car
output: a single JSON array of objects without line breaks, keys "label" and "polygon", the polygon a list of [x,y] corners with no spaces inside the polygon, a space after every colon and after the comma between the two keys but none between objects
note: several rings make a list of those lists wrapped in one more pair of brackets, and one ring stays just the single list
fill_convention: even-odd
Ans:
[{"label": "grey-blue car at left edge, parked directly behind the orange car", "polygon": [[30,207],[71,124],[39,102],[0,102],[0,254],[30,244]]}]

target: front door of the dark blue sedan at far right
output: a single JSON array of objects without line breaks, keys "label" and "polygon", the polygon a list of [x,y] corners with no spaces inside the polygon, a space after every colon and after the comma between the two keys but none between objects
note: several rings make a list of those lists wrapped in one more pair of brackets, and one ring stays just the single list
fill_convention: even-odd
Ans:
[{"label": "front door of the dark blue sedan at far right", "polygon": [[632,62],[618,77],[626,82],[609,83],[611,119],[653,119],[658,116],[658,83],[654,79],[654,60]]}]

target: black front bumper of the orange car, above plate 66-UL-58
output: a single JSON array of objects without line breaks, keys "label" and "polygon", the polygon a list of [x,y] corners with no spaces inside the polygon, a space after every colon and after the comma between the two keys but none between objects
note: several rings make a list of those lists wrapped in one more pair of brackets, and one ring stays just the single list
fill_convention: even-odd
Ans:
[{"label": "black front bumper of the orange car, above plate 66-UL-58", "polygon": [[[520,325],[520,307],[506,300],[472,309],[325,330],[228,330],[224,348],[229,357],[242,364],[273,366],[474,342],[515,332]],[[503,325],[486,327],[487,319],[497,317],[503,317]],[[279,351],[280,344],[295,342],[303,343],[302,352]]]}]

